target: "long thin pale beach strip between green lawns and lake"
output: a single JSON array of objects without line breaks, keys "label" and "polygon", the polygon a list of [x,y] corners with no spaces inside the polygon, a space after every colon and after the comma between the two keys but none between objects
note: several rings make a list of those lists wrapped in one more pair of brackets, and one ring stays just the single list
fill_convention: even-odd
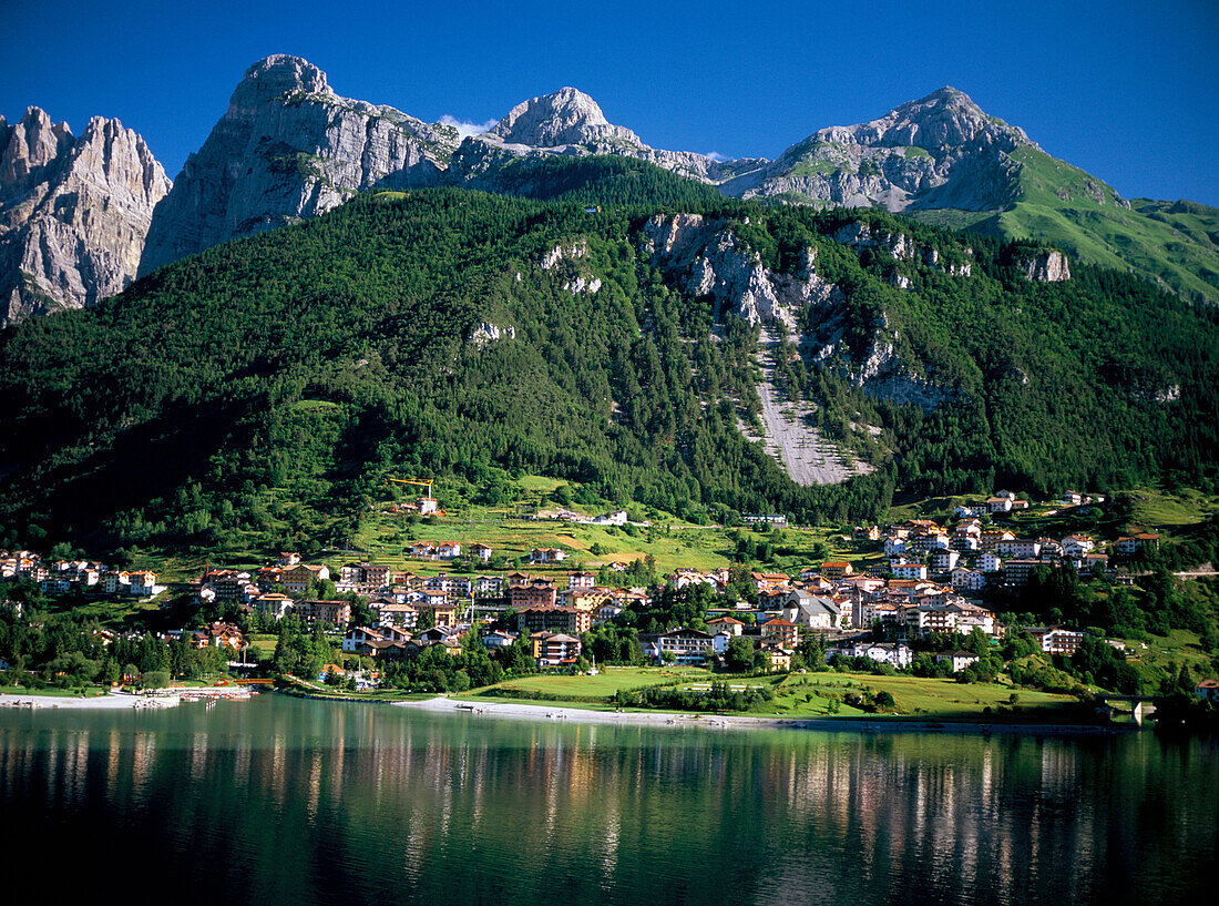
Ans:
[{"label": "long thin pale beach strip between green lawns and lake", "polygon": [[769,717],[746,715],[696,715],[673,711],[594,711],[558,704],[517,704],[510,701],[452,699],[436,696],[427,701],[399,701],[396,707],[413,707],[433,713],[461,713],[472,717],[500,719],[553,721],[562,723],[611,723],[650,727],[707,729],[802,729],[846,733],[1019,733],[1028,735],[1117,735],[1134,728],[1119,726],[1057,724],[1057,723],[1004,723],[983,721],[936,721],[903,718],[824,718],[824,717]]}]

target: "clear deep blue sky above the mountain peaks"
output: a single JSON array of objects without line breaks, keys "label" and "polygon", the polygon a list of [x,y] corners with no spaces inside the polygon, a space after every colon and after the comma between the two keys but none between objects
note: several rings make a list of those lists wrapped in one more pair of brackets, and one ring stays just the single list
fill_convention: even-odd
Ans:
[{"label": "clear deep blue sky above the mountain peaks", "polygon": [[650,145],[731,157],[951,84],[1128,198],[1219,205],[1217,49],[1219,0],[0,0],[0,115],[118,117],[173,177],[277,52],[427,121],[575,85]]}]

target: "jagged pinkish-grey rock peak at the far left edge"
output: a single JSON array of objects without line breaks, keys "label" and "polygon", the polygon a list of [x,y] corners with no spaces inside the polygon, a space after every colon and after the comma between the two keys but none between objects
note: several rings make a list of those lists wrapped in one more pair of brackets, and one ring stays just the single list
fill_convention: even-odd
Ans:
[{"label": "jagged pinkish-grey rock peak at the far left edge", "polygon": [[94,117],[77,139],[38,107],[0,118],[0,326],[121,293],[169,188],[117,119]]}]

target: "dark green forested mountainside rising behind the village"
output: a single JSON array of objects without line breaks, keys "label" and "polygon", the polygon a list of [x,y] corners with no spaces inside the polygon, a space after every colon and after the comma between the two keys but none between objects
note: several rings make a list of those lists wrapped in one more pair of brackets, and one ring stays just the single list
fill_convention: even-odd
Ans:
[{"label": "dark green forested mountainside rising behind the village", "polygon": [[[636,162],[578,166],[550,201],[369,193],[6,329],[4,541],[330,543],[407,473],[491,487],[519,469],[691,518],[808,522],[876,518],[895,489],[1213,479],[1212,311],[1089,268],[1031,283],[1023,246],[725,201]],[[817,361],[794,343],[780,379],[875,473],[800,487],[744,439],[758,328],[651,266],[641,230],[661,210],[719,218],[775,272],[816,249],[851,328]],[[830,238],[861,219],[940,266]],[[948,276],[956,260],[970,277]],[[880,340],[937,405],[861,379]]]}]

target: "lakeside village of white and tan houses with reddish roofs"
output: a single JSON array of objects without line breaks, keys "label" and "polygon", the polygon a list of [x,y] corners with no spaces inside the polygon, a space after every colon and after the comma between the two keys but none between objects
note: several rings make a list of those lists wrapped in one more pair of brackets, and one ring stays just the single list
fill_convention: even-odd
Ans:
[{"label": "lakeside village of white and tan houses with reddish roofs", "polygon": [[[461,655],[474,635],[492,656],[513,645],[527,646],[539,671],[595,671],[595,658],[590,663],[586,650],[589,633],[607,624],[629,626],[638,641],[636,660],[652,665],[723,668],[731,660],[729,650],[735,645],[739,655],[744,644],[753,668],[783,672],[792,669],[794,658],[805,663],[797,652],[807,655],[808,646],[801,643],[816,638],[818,657],[829,662],[856,658],[906,671],[923,654],[941,672],[954,674],[980,658],[978,645],[967,649],[962,640],[998,644],[1013,630],[1028,633],[1045,655],[1070,657],[1085,639],[1082,628],[1017,624],[1012,615],[995,612],[990,593],[1018,594],[1039,568],[1130,583],[1119,563],[1157,548],[1159,537],[1020,538],[1000,519],[1029,505],[1013,493],[1000,491],[957,506],[951,527],[926,518],[855,527],[851,541],[883,555],[869,567],[857,568],[848,560],[785,572],[740,565],[678,567],[656,577],[652,585],[631,585],[630,567],[623,561],[568,568],[569,554],[560,548],[535,548],[528,554],[528,569],[500,572],[478,571],[494,554],[490,545],[478,541],[411,544],[411,561],[432,567],[427,572],[367,561],[308,563],[300,554],[285,551],[254,569],[207,565],[190,583],[191,605],[228,618],[202,626],[196,619],[194,628],[167,629],[160,637],[166,643],[185,639],[196,649],[221,647],[229,652],[234,669],[245,669],[247,663],[257,665],[257,657],[249,658],[247,633],[274,630],[291,616],[304,627],[321,628],[343,652],[321,678],[346,674],[339,666],[346,658],[349,667],[355,666],[351,678],[358,677],[361,689],[375,687],[386,665],[408,661],[433,646]],[[1058,505],[1102,506],[1103,498],[1068,491]],[[414,506],[439,510],[432,498],[421,498]],[[611,518],[620,522],[625,513]],[[786,521],[778,515],[748,515],[744,522],[767,530]],[[449,565],[455,568],[450,571]],[[160,595],[162,606],[172,600],[151,569],[110,569],[84,560],[48,562],[30,551],[0,551],[4,578],[28,579],[48,596]],[[670,597],[697,601],[697,616],[678,626],[657,626],[655,619],[649,626],[623,622],[624,613],[649,612],[666,590]],[[113,639],[113,630],[98,632],[102,645]],[[1123,647],[1120,641],[1109,644]],[[360,665],[364,668],[358,669]]]}]

